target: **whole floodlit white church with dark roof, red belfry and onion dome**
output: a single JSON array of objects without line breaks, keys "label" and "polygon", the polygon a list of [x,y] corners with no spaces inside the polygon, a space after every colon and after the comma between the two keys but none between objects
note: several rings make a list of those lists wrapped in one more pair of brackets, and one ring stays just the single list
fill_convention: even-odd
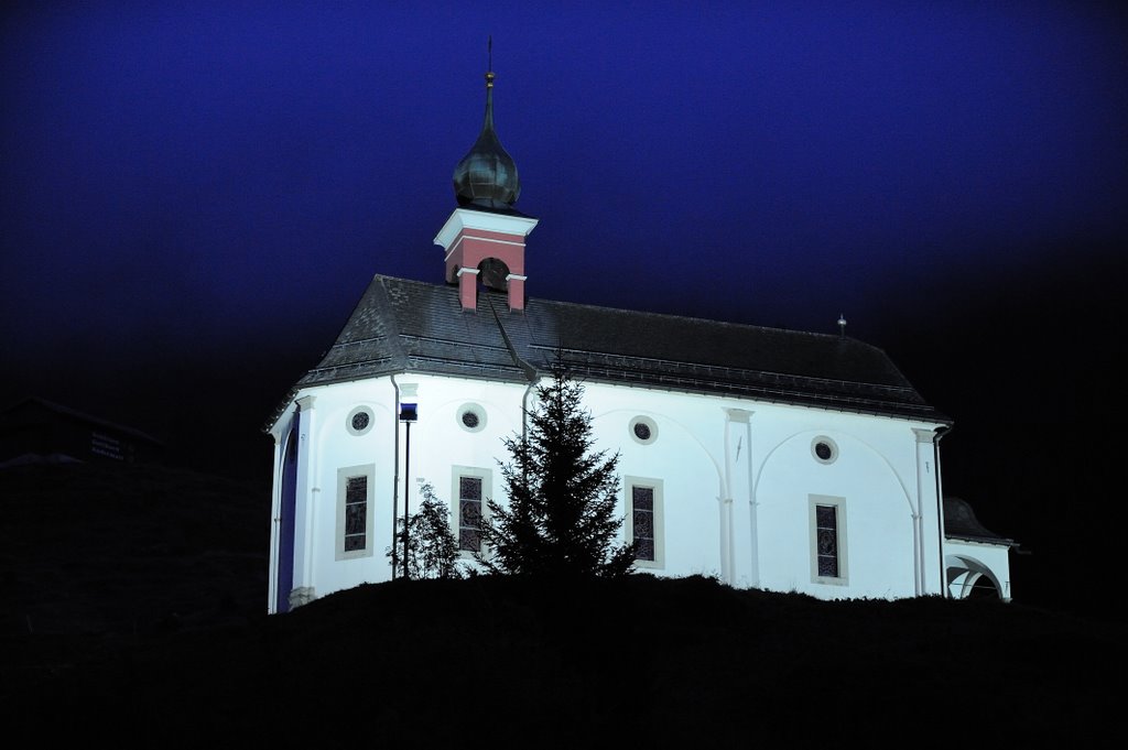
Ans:
[{"label": "whole floodlit white church with dark roof, red belfry and onion dome", "polygon": [[619,455],[637,570],[823,599],[1011,598],[1013,542],[944,500],[951,421],[881,350],[528,298],[537,220],[513,208],[492,86],[434,239],[444,283],[374,276],[265,427],[270,612],[390,580],[395,521],[423,483],[469,558],[486,498],[505,500],[502,441],[526,430],[557,356],[583,383],[596,449]]}]

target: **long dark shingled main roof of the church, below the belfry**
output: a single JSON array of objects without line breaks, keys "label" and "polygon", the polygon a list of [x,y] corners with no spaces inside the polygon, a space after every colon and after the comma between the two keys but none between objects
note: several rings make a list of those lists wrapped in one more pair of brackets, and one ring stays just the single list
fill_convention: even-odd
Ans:
[{"label": "long dark shingled main roof of the church, below the belfry", "polygon": [[846,336],[539,299],[510,311],[490,291],[464,311],[456,286],[382,275],[294,391],[405,371],[528,382],[557,350],[591,382],[950,423],[883,351]]}]

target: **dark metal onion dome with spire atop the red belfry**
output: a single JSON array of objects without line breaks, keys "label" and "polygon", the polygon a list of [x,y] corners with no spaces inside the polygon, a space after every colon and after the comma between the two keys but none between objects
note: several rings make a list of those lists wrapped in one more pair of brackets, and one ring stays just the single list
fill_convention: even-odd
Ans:
[{"label": "dark metal onion dome with spire atop the red belfry", "polygon": [[493,79],[486,73],[486,116],[482,134],[455,167],[455,197],[458,205],[510,209],[521,195],[517,164],[493,127]]}]

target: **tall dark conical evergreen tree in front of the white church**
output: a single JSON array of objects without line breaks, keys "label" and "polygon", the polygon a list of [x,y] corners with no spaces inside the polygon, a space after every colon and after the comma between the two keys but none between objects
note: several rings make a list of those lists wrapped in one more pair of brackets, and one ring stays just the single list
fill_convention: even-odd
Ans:
[{"label": "tall dark conical evergreen tree in front of the white church", "polygon": [[476,559],[492,573],[620,576],[631,572],[633,544],[616,546],[623,518],[615,506],[619,456],[592,452],[591,415],[583,387],[562,367],[537,388],[528,438],[505,439],[501,464],[509,506],[487,500],[483,548]]}]

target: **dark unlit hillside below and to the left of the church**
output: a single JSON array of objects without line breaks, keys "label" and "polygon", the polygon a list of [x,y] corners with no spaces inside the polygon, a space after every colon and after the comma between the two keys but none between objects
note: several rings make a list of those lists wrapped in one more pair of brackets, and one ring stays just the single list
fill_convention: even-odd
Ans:
[{"label": "dark unlit hillside below and to the left of the church", "polygon": [[144,747],[1043,747],[1114,729],[1113,624],[650,576],[395,582],[267,618],[259,487],[56,471],[0,473],[12,747],[76,731]]}]

